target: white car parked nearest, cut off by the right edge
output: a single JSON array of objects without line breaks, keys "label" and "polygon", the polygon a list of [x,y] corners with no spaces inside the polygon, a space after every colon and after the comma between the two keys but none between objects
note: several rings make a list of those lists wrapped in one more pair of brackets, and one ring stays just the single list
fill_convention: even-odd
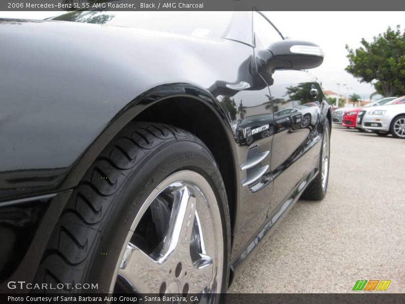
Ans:
[{"label": "white car parked nearest, cut off by the right edge", "polygon": [[391,133],[396,138],[405,139],[405,104],[373,106],[360,112],[362,115],[357,115],[357,124],[363,129],[380,136]]}]

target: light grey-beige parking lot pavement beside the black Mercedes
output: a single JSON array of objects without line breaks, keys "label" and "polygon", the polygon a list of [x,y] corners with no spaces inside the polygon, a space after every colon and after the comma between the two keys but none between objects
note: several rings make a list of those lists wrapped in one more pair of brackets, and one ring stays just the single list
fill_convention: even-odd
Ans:
[{"label": "light grey-beige parking lot pavement beside the black Mercedes", "polygon": [[298,201],[230,292],[405,292],[405,140],[334,126],[330,166],[327,197]]}]

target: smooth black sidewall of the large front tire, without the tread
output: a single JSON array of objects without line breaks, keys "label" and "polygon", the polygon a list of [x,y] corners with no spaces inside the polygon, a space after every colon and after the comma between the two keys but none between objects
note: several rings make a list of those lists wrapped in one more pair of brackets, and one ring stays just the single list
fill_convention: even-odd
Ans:
[{"label": "smooth black sidewall of the large front tire, without the tread", "polygon": [[[128,179],[114,198],[114,206],[96,242],[84,281],[97,282],[99,291],[108,292],[121,248],[148,196],[169,175],[180,170],[191,170],[209,182],[219,205],[224,242],[224,273],[220,291],[225,292],[229,277],[229,212],[224,184],[214,158],[203,144],[191,140],[171,141],[149,153],[143,162],[131,169]],[[100,252],[107,254],[101,255]]]}]

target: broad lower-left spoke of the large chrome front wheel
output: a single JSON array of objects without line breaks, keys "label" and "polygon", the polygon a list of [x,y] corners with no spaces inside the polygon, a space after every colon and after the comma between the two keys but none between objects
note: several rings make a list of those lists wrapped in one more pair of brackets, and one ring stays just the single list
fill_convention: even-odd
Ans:
[{"label": "broad lower-left spoke of the large chrome front wheel", "polygon": [[137,246],[129,243],[118,273],[124,276],[136,291],[156,293],[159,292],[167,271],[165,265],[159,264]]}]

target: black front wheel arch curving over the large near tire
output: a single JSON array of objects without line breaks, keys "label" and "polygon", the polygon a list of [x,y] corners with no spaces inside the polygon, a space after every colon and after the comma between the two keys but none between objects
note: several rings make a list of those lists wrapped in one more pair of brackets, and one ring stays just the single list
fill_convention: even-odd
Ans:
[{"label": "black front wheel arch curving over the large near tire", "polygon": [[76,160],[60,189],[76,186],[101,150],[131,121],[173,125],[189,131],[207,145],[224,180],[233,232],[237,183],[232,130],[218,100],[207,90],[190,84],[161,85],[128,103]]}]

